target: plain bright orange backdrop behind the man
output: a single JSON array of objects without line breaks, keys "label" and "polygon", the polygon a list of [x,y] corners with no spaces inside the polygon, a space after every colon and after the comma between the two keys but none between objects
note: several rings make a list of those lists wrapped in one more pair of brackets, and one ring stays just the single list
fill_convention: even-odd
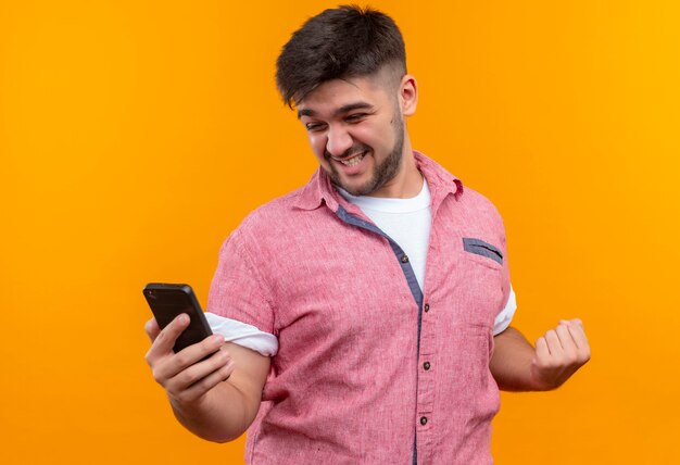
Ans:
[{"label": "plain bright orange backdrop behind the man", "polygon": [[[503,394],[496,462],[678,461],[678,3],[373,4],[418,78],[414,147],[504,215],[516,326],[591,340],[567,386]],[[274,62],[333,5],[0,2],[1,463],[241,462],[174,420],[141,288],[205,303],[229,231],[308,179]]]}]

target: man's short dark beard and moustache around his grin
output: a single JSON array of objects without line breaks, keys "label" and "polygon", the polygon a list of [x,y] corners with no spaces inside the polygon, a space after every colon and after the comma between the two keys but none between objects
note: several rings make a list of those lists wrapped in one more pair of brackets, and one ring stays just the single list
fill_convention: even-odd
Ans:
[{"label": "man's short dark beard and moustache around his grin", "polygon": [[[362,186],[351,187],[342,183],[342,178],[340,177],[340,173],[336,168],[336,166],[330,163],[330,171],[328,172],[328,176],[330,177],[330,181],[344,189],[352,196],[368,196],[376,190],[380,189],[387,183],[392,180],[396,173],[399,173],[402,160],[403,160],[403,150],[404,150],[404,124],[399,112],[395,112],[394,117],[392,118],[394,126],[394,147],[388,153],[385,160],[380,163],[377,163],[373,169],[373,175],[370,179],[364,183]],[[361,152],[370,152],[370,156],[375,158],[375,152],[373,148],[366,146],[365,143],[355,143],[350,147],[343,154],[342,158],[350,156],[352,154],[361,153]],[[330,160],[330,153],[328,151],[324,152],[324,156],[326,160]],[[364,156],[368,156],[368,153]]]}]

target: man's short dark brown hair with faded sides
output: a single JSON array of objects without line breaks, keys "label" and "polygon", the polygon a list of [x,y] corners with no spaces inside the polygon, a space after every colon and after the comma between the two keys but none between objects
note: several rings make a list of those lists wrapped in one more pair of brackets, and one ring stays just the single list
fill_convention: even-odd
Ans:
[{"label": "man's short dark brown hair with faded sides", "polygon": [[276,85],[292,108],[320,84],[368,76],[391,65],[406,73],[404,39],[394,21],[377,10],[342,5],[307,20],[284,46]]}]

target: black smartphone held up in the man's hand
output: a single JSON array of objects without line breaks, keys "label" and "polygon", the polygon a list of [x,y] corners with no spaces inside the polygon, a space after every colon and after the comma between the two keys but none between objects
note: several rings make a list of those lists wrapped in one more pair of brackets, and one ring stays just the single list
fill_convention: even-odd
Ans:
[{"label": "black smartphone held up in the man's hand", "polygon": [[175,353],[213,334],[191,286],[149,282],[143,293],[161,329],[182,313],[191,318],[187,329],[175,341]]}]

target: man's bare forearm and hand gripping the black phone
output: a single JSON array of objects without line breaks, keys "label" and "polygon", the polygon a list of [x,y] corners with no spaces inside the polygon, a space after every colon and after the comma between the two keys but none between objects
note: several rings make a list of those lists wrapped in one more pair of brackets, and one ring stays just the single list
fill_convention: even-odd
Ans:
[{"label": "man's bare forearm and hand gripping the black phone", "polygon": [[176,317],[163,330],[147,322],[152,340],[147,362],[167,393],[175,416],[197,436],[215,442],[241,436],[255,418],[269,372],[269,357],[213,335],[175,353],[173,345],[189,318]]}]

